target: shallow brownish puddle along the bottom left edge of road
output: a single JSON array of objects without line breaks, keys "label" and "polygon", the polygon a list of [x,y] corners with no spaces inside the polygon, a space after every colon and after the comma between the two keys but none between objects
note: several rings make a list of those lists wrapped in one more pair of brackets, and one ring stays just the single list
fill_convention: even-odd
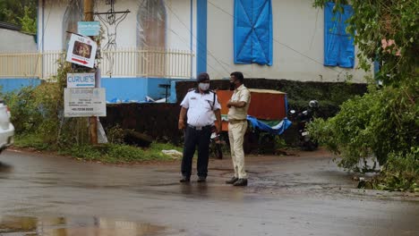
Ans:
[{"label": "shallow brownish puddle along the bottom left edge of road", "polygon": [[150,223],[111,220],[102,217],[0,216],[2,236],[144,236],[157,235],[165,227]]}]

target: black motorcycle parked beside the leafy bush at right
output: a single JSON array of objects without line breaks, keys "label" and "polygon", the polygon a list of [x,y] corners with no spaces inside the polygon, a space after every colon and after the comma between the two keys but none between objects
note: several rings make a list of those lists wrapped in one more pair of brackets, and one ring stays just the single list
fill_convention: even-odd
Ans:
[{"label": "black motorcycle parked beside the leafy bush at right", "polygon": [[296,112],[295,110],[289,111],[289,118],[292,122],[296,123],[298,130],[299,146],[306,151],[313,151],[319,147],[319,143],[310,137],[310,132],[306,130],[306,125],[313,121],[313,115],[319,108],[319,102],[312,100],[309,102],[308,109],[302,112]]}]

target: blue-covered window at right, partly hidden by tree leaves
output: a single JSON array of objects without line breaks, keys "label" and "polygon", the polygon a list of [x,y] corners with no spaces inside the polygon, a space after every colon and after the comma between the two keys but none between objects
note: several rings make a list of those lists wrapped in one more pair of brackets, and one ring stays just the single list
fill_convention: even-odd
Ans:
[{"label": "blue-covered window at right, partly hidden by tree leaves", "polygon": [[354,68],[354,38],[346,33],[346,21],[354,11],[352,6],[344,5],[342,13],[333,13],[334,7],[334,3],[324,7],[324,65]]}]

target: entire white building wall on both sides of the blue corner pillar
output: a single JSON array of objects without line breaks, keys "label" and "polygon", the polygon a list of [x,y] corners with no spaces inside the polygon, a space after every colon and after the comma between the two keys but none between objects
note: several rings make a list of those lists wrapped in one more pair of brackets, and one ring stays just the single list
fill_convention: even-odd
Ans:
[{"label": "entire white building wall on both sides of the blue corner pillar", "polygon": [[[48,2],[48,0],[47,0]],[[59,2],[59,1],[58,1]],[[61,1],[63,2],[63,1]],[[62,25],[66,4],[47,4],[38,8],[39,50],[62,49]],[[98,1],[95,11],[106,12],[104,1]],[[115,11],[129,9],[127,18],[117,29],[118,47],[136,46],[137,12],[140,0],[118,0]],[[192,74],[196,73],[196,0],[165,0],[167,5],[167,47],[183,50],[191,48],[195,54]],[[323,12],[314,9],[306,0],[273,0],[273,65],[243,65],[234,63],[233,0],[211,0],[208,3],[207,71],[211,78],[228,77],[230,72],[241,71],[246,77],[337,81],[353,75],[355,82],[364,81],[364,72],[340,67],[323,66]],[[44,18],[42,18],[44,11]],[[43,28],[42,28],[43,27]],[[43,29],[45,34],[43,34]],[[42,37],[44,46],[42,46]],[[355,62],[355,66],[357,62]]]}]

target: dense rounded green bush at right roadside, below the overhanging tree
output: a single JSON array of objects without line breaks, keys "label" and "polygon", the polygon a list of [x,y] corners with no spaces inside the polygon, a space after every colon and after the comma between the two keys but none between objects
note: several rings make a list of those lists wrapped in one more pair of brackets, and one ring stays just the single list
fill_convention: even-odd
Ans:
[{"label": "dense rounded green bush at right roadside, below the overhanging tree", "polygon": [[339,164],[347,169],[355,170],[369,156],[380,164],[386,163],[390,153],[406,156],[419,144],[419,109],[410,99],[411,89],[371,87],[363,97],[341,105],[335,117],[309,124],[309,131],[341,155]]}]

